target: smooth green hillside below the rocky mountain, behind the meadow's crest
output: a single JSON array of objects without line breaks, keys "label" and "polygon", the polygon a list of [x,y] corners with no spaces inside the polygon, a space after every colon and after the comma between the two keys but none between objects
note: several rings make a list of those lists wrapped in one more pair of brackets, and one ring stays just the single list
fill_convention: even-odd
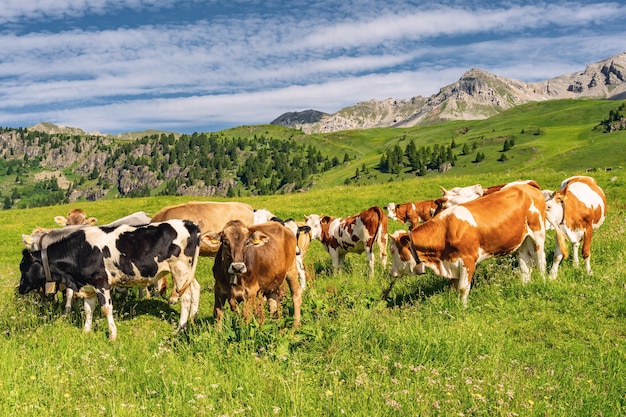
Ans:
[{"label": "smooth green hillside below the rocky mountain, behind the meadow's crest", "polygon": [[[455,142],[458,155],[464,143],[473,149],[467,156],[458,156],[455,166],[445,174],[482,175],[486,173],[533,172],[555,169],[577,171],[619,168],[626,162],[626,131],[603,133],[596,129],[611,110],[624,101],[555,100],[515,107],[486,120],[454,121],[407,129],[369,129],[332,134],[311,135],[316,143],[335,145],[337,152],[356,155],[356,159],[316,178],[316,186],[343,184],[363,164],[370,178],[358,183],[383,183],[408,179],[412,172],[398,175],[375,171],[383,152],[409,141],[416,146],[448,146]],[[507,151],[507,160],[498,161],[505,140],[513,139],[515,146]],[[485,154],[480,163],[473,163],[476,153]],[[372,174],[374,173],[374,174]],[[375,175],[375,178],[373,176]]]}]

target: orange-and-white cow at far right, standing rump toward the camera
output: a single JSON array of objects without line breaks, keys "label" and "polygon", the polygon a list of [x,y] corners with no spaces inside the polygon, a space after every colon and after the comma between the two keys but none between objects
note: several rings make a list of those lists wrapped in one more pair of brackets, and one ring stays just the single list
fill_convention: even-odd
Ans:
[{"label": "orange-and-white cow at far right, standing rump toward the camera", "polygon": [[[582,242],[582,257],[585,269],[591,271],[591,237],[593,230],[604,223],[606,218],[606,196],[595,179],[575,176],[564,180],[557,192],[544,191],[546,215],[565,233],[572,242],[572,262],[578,266],[578,249]],[[546,227],[551,229],[551,225]],[[550,278],[556,278],[563,254],[558,245],[554,250],[554,261]]]}]

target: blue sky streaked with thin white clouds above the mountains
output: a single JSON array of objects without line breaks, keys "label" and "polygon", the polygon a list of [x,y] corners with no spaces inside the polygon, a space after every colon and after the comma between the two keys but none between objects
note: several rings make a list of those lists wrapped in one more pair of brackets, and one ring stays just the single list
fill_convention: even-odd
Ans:
[{"label": "blue sky streaked with thin white clouds above the mountains", "polygon": [[3,0],[0,125],[193,133],[626,51],[609,1]]}]

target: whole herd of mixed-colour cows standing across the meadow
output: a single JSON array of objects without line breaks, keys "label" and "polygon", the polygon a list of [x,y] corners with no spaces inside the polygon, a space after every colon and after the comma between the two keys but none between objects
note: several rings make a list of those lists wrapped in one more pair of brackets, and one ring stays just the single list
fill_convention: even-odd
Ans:
[{"label": "whole herd of mixed-colour cows standing across the meadow", "polygon": [[[365,252],[369,274],[374,274],[374,246],[382,265],[391,253],[391,276],[423,274],[426,267],[449,278],[467,303],[476,265],[493,256],[517,253],[522,280],[530,268],[546,272],[546,230],[556,232],[550,277],[568,256],[566,239],[578,249],[591,274],[592,231],[604,222],[606,197],[587,176],[564,180],[556,192],[542,190],[535,181],[516,181],[484,189],[480,185],[442,188],[435,200],[389,203],[386,214],[378,206],[362,213],[335,218],[311,214],[305,222],[283,221],[264,209],[238,202],[190,202],[165,207],[149,217],[133,213],[113,223],[95,226],[82,210],[55,221],[58,229],[34,230],[22,235],[26,246],[20,263],[20,294],[65,290],[66,309],[78,296],[84,299],[84,330],[92,327],[99,302],[107,319],[109,338],[115,340],[111,290],[118,287],[153,287],[161,294],[172,276],[170,302],[180,300],[179,329],[198,312],[200,284],[195,278],[199,256],[213,264],[214,314],[221,326],[226,302],[250,318],[263,305],[277,310],[277,296],[286,281],[294,306],[294,326],[300,324],[302,293],[307,273],[303,258],[311,240],[319,240],[337,272],[348,252]],[[409,230],[388,233],[388,219]],[[388,238],[390,243],[388,245]],[[392,280],[393,285],[394,280]],[[384,292],[386,297],[391,286]]]}]

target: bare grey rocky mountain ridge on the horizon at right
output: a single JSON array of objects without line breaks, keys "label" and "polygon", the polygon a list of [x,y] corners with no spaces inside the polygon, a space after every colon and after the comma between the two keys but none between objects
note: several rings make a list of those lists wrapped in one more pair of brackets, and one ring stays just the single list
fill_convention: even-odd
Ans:
[{"label": "bare grey rocky mountain ridge on the horizon at right", "polygon": [[[626,52],[588,65],[584,71],[525,83],[473,68],[429,98],[369,100],[333,114],[290,112],[272,124],[306,133],[373,127],[411,127],[445,120],[486,119],[511,107],[564,98],[626,98]],[[318,120],[310,117],[319,116]]]}]

